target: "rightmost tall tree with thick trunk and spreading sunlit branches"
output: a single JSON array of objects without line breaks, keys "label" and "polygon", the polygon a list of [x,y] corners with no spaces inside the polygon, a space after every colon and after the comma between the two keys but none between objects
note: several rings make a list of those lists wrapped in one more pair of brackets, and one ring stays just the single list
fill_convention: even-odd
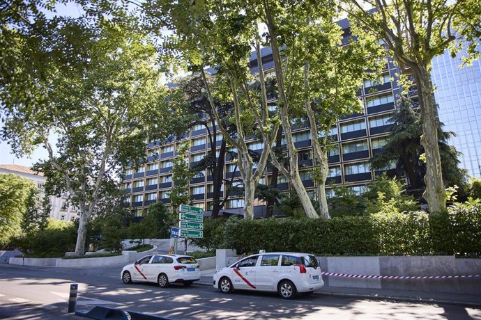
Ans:
[{"label": "rightmost tall tree with thick trunk and spreading sunlit branches", "polygon": [[[348,0],[352,23],[365,33],[381,38],[395,58],[405,78],[412,74],[418,87],[422,119],[421,143],[426,152],[425,199],[431,211],[446,207],[446,194],[438,147],[438,113],[430,70],[432,58],[450,48],[452,54],[465,44],[468,60],[479,56],[481,12],[478,2],[445,0],[366,1]],[[407,89],[407,86],[406,86]]]}]

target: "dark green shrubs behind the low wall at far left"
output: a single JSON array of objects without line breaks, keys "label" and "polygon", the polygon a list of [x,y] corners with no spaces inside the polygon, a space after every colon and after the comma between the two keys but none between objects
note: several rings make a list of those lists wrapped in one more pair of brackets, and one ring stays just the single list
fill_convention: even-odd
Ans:
[{"label": "dark green shrubs behind the low wall at far left", "polygon": [[76,230],[77,225],[72,221],[49,218],[44,230],[13,239],[13,244],[29,257],[63,257],[75,248]]}]

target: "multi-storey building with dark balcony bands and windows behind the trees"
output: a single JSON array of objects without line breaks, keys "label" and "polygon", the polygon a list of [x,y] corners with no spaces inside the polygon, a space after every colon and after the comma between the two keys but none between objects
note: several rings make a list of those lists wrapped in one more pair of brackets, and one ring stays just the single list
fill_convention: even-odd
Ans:
[{"label": "multi-storey building with dark balcony bands and windows behind the trees", "polygon": [[[350,37],[349,24],[342,20],[339,24],[344,29],[343,45],[348,43]],[[266,74],[273,72],[273,58],[269,49],[261,51],[263,68]],[[257,72],[257,58],[252,55],[250,65],[252,72]],[[361,193],[365,190],[368,182],[374,179],[374,172],[369,166],[369,159],[379,152],[386,143],[386,136],[392,124],[388,120],[395,112],[395,99],[400,92],[395,74],[399,73],[395,64],[386,58],[385,67],[382,73],[381,83],[376,81],[364,81],[358,96],[364,103],[364,112],[355,113],[339,120],[330,130],[330,138],[335,141],[329,151],[329,177],[326,184],[328,197],[333,195],[333,186],[349,186],[352,191]],[[270,104],[275,104],[276,97],[270,99]],[[307,191],[315,197],[315,181],[310,175],[312,168],[312,143],[310,140],[310,127],[307,119],[296,119],[292,122],[293,141],[298,150],[298,161],[301,179]],[[222,136],[220,136],[222,140]],[[130,168],[125,170],[123,178],[123,189],[130,193],[128,201],[135,216],[143,216],[146,208],[153,202],[162,202],[165,205],[170,203],[169,191],[172,186],[171,169],[174,163],[176,149],[179,143],[188,141],[190,145],[189,163],[194,166],[197,161],[203,159],[210,151],[206,128],[202,125],[192,127],[188,135],[178,138],[176,141],[165,145],[150,143],[148,145],[148,162],[137,171]],[[216,141],[220,147],[221,141]],[[252,139],[247,141],[250,150],[262,149],[262,142]],[[236,152],[236,150],[231,150]],[[241,173],[236,170],[236,165],[229,155],[225,159],[224,179],[234,178],[233,185],[241,184]],[[390,168],[385,168],[389,170]],[[261,184],[270,184],[271,172],[266,168]],[[289,182],[282,175],[279,175],[277,189],[288,192],[291,189]],[[224,195],[226,190],[223,189]],[[209,170],[204,171],[190,180],[190,195],[194,205],[205,211],[211,208],[213,198],[212,177]],[[229,193],[222,211],[227,213],[241,213],[243,208],[243,195]],[[221,211],[221,214],[222,214]],[[264,216],[266,206],[262,202],[254,205],[254,217]]]}]

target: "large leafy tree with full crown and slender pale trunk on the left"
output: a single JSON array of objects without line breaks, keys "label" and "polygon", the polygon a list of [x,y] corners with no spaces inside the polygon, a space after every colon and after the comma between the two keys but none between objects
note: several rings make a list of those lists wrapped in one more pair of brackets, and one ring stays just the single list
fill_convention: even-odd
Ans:
[{"label": "large leafy tree with full crown and slender pale trunk on the left", "polygon": [[[17,57],[0,74],[3,139],[17,156],[47,149],[38,168],[79,208],[77,255],[102,184],[121,175],[122,165],[142,163],[148,138],[178,125],[155,48],[128,21],[117,22],[55,18],[41,33],[9,30]],[[56,150],[51,133],[59,136]]]}]

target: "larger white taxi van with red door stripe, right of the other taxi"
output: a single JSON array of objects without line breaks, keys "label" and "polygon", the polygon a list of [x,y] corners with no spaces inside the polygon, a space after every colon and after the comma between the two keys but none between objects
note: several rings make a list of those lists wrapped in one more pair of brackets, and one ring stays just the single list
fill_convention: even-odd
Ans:
[{"label": "larger white taxi van with red door stripe, right of the other taxi", "polygon": [[225,294],[234,289],[277,291],[291,299],[324,286],[321,266],[307,253],[260,253],[215,271],[213,286]]}]

